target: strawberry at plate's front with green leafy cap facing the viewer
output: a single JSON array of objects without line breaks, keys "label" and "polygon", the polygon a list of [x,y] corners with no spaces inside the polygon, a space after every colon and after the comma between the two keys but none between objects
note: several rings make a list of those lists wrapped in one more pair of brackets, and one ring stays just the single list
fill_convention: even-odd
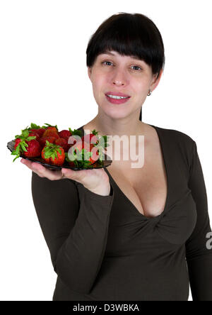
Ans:
[{"label": "strawberry at plate's front with green leafy cap facing the viewer", "polygon": [[55,143],[49,143],[48,140],[47,144],[42,149],[41,156],[48,164],[57,166],[61,166],[64,164],[64,149],[61,148],[59,145],[56,145]]}]

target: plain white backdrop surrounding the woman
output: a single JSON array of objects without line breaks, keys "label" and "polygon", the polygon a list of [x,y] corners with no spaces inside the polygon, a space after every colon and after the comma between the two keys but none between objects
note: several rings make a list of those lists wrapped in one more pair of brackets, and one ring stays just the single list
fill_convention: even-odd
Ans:
[{"label": "plain white backdrop surrounding the woman", "polygon": [[212,218],[211,1],[1,1],[1,300],[51,301],[57,278],[35,214],[31,171],[20,158],[12,162],[6,144],[31,122],[62,130],[94,118],[86,48],[118,12],[145,14],[163,37],[165,70],[143,104],[143,121],[196,141]]}]

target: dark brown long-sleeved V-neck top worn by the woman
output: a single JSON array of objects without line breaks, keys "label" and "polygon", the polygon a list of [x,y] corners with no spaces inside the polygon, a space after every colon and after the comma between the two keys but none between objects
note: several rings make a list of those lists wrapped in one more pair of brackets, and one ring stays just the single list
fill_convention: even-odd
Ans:
[{"label": "dark brown long-sleeved V-neck top worn by the woman", "polygon": [[168,187],[158,216],[141,214],[107,167],[108,196],[32,172],[35,211],[57,273],[53,301],[187,301],[189,285],[193,301],[212,301],[211,225],[196,142],[153,128]]}]

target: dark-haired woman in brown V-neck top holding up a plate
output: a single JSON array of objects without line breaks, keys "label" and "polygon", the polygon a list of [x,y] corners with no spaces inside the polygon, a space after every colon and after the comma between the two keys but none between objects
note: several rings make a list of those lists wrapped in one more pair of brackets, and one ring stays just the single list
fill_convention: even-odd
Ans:
[{"label": "dark-haired woman in brown V-neck top holding up a plate", "polygon": [[[86,53],[98,115],[79,129],[144,136],[145,157],[142,167],[121,158],[77,172],[25,160],[58,275],[53,301],[187,301],[189,283],[194,301],[212,301],[211,226],[196,143],[141,121],[165,63],[158,28],[139,13],[114,14]],[[128,97],[124,103],[114,104],[118,94]]]}]

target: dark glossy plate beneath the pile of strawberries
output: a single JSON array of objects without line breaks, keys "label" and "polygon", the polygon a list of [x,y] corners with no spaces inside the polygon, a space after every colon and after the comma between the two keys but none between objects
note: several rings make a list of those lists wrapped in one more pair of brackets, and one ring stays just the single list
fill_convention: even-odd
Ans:
[{"label": "dark glossy plate beneath the pile of strawberries", "polygon": [[[14,150],[14,145],[16,143],[16,139],[11,140],[7,143],[7,148],[13,152]],[[12,155],[14,158],[16,157],[16,155]],[[23,157],[23,159],[25,160],[30,160],[32,162],[37,162],[42,164],[43,166],[47,167],[49,170],[61,170],[62,168],[69,168],[70,170],[93,170],[94,168],[102,168],[102,167],[107,167],[112,163],[112,160],[102,160],[102,164],[100,164],[100,161],[96,161],[95,163],[92,164],[93,167],[88,167],[88,168],[78,168],[78,167],[72,167],[69,165],[69,163],[65,160],[64,161],[64,165],[62,166],[57,166],[57,165],[50,165],[44,162],[44,160],[42,159],[42,157],[25,157],[24,155],[20,154],[20,157]],[[109,158],[109,156],[107,156],[105,154],[105,158]],[[15,161],[16,162],[16,161]]]}]

